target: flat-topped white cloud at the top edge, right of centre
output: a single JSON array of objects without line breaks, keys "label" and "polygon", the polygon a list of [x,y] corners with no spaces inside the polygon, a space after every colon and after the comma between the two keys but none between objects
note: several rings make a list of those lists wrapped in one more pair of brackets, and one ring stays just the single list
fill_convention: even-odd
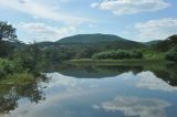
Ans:
[{"label": "flat-topped white cloud at the top edge, right of centre", "polygon": [[92,8],[112,11],[115,15],[152,12],[169,6],[170,3],[164,0],[104,0],[91,4]]}]

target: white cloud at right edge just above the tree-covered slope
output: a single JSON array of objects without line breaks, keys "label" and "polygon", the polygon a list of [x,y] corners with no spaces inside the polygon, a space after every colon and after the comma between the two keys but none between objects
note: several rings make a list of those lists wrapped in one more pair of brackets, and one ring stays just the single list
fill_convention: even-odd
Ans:
[{"label": "white cloud at right edge just above the tree-covered slope", "polygon": [[135,24],[140,41],[163,40],[177,33],[177,19],[165,18]]}]

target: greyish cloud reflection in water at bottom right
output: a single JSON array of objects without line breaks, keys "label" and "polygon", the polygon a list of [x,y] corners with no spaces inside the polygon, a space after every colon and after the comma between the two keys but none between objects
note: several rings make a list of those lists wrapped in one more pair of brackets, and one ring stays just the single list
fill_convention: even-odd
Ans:
[{"label": "greyish cloud reflection in water at bottom right", "polygon": [[165,107],[169,103],[156,98],[115,97],[114,100],[93,105],[94,109],[121,110],[125,116],[166,117]]}]

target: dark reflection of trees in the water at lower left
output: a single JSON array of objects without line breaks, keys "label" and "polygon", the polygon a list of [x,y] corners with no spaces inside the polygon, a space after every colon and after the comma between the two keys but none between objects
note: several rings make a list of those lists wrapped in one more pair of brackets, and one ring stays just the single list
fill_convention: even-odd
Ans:
[{"label": "dark reflection of trees in the water at lower left", "polygon": [[0,114],[8,114],[18,107],[18,100],[28,98],[31,103],[39,103],[45,99],[42,86],[35,81],[22,85],[0,85]]}]

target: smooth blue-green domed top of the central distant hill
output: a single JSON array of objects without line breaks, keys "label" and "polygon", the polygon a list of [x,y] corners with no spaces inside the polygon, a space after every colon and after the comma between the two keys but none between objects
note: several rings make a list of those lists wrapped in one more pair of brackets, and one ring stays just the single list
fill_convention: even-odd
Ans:
[{"label": "smooth blue-green domed top of the central distant hill", "polygon": [[132,42],[112,34],[77,34],[59,40],[59,43],[101,43],[101,42]]}]

